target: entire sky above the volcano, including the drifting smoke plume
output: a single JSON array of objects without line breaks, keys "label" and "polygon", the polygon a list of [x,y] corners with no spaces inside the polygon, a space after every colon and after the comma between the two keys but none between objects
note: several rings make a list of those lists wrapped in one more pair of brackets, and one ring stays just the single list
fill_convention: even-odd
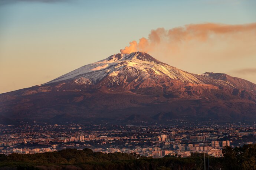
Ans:
[{"label": "entire sky above the volcano, including the drifting smoke plume", "polygon": [[135,41],[135,50],[185,71],[256,83],[255,8],[255,0],[0,0],[0,93],[46,83]]}]

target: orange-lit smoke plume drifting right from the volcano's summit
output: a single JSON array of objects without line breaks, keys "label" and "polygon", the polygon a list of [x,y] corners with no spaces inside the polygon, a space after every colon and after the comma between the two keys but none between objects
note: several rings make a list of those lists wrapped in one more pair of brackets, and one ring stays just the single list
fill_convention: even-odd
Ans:
[{"label": "orange-lit smoke plume drifting right from the volcano's summit", "polygon": [[[256,56],[256,23],[227,25],[188,24],[166,30],[151,30],[148,38],[132,41],[122,54],[148,52],[160,59],[230,59]],[[201,56],[201,57],[198,57]],[[165,59],[166,61],[166,59]]]}]

